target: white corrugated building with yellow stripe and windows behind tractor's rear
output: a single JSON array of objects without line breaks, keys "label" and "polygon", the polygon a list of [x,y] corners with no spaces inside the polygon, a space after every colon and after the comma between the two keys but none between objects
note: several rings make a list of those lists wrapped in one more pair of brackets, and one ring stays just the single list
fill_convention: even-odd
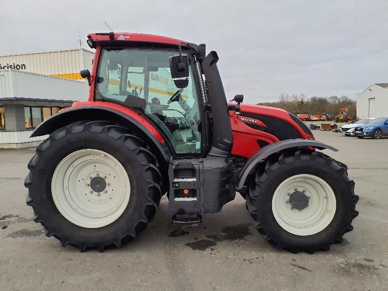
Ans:
[{"label": "white corrugated building with yellow stripe and windows behind tractor's rear", "polygon": [[74,101],[87,100],[80,71],[94,53],[71,49],[0,56],[0,148],[36,146],[45,137],[32,130]]}]

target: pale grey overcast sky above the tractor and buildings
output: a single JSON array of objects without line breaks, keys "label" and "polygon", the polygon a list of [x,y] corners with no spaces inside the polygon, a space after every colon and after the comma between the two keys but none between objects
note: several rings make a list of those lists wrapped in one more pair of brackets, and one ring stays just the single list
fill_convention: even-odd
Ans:
[{"label": "pale grey overcast sky above the tractor and buildings", "polygon": [[[211,2],[211,3],[210,3]],[[90,32],[143,32],[216,50],[226,96],[356,98],[388,82],[388,0],[0,0],[0,55],[77,47]],[[86,46],[85,46],[86,48]]]}]

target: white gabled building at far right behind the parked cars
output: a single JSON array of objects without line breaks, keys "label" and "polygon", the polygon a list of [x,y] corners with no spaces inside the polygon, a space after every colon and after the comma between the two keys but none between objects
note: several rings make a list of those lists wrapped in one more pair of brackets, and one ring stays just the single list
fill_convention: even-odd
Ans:
[{"label": "white gabled building at far right behind the parked cars", "polygon": [[388,117],[388,83],[372,84],[357,94],[357,117]]}]

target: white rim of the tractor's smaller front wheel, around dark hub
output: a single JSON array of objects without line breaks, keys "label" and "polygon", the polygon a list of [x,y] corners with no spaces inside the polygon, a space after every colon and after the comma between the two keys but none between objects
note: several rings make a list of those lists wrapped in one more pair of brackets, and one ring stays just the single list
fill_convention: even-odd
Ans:
[{"label": "white rim of the tractor's smaller front wheel, around dark hub", "polygon": [[[290,197],[302,192],[308,198],[303,210],[292,209]],[[295,235],[312,235],[322,231],[336,213],[336,196],[323,179],[308,175],[296,175],[284,180],[272,198],[272,212],[277,223]]]}]

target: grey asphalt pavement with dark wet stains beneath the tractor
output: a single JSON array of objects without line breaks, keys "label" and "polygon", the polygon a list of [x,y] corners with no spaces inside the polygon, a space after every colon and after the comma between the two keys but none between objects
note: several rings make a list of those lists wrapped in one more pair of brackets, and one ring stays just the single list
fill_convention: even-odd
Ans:
[{"label": "grey asphalt pavement with dark wet stains beneath the tractor", "polygon": [[315,130],[348,165],[360,196],[352,232],[328,252],[291,254],[264,242],[237,194],[194,226],[171,224],[162,197],[154,220],[120,249],[80,253],[32,221],[23,182],[32,149],[0,150],[0,290],[388,290],[388,138]]}]

